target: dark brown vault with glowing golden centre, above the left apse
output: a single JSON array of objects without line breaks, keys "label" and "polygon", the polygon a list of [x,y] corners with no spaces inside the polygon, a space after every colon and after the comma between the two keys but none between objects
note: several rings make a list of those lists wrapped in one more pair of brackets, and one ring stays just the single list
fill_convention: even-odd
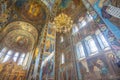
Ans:
[{"label": "dark brown vault with glowing golden centre, above the left apse", "polygon": [[41,1],[17,0],[16,11],[21,16],[21,20],[33,24],[39,32],[48,22],[48,9]]}]

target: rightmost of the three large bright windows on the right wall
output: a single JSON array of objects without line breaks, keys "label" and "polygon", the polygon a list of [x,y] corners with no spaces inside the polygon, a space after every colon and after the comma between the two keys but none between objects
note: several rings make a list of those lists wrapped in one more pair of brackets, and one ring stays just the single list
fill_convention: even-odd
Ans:
[{"label": "rightmost of the three large bright windows on the right wall", "polygon": [[102,49],[109,49],[110,48],[107,41],[105,40],[104,36],[102,35],[102,33],[99,30],[96,31],[96,36],[97,36],[97,40],[98,40]]}]

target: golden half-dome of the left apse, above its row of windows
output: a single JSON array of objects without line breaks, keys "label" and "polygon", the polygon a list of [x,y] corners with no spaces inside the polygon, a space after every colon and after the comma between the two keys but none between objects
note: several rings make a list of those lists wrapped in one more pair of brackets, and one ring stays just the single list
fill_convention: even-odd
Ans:
[{"label": "golden half-dome of the left apse, above its row of windows", "polygon": [[3,43],[5,47],[13,51],[27,53],[33,49],[35,41],[30,33],[15,30],[6,35]]}]

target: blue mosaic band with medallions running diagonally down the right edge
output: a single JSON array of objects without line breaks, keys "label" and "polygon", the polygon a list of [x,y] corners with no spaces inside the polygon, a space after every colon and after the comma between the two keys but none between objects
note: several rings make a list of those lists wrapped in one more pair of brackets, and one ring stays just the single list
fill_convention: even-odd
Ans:
[{"label": "blue mosaic band with medallions running diagonally down the right edge", "polygon": [[[100,0],[96,0],[95,3],[92,4],[93,5],[92,6],[86,1],[86,3],[88,3],[89,5],[87,8],[90,11],[90,14],[93,16],[96,24],[98,25],[98,28],[101,30],[104,37],[108,41],[109,45],[112,47],[114,52],[118,56],[120,56],[120,39],[119,39],[120,30],[118,29],[117,26],[113,25],[112,22],[110,22],[108,19],[103,18],[102,10],[99,7],[100,2],[101,2]],[[101,5],[102,3],[103,2],[101,2]]]}]

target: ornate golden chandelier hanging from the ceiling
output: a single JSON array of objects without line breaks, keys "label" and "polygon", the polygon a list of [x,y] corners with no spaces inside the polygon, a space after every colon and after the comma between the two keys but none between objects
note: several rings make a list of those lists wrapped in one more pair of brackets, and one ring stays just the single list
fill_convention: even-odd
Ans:
[{"label": "ornate golden chandelier hanging from the ceiling", "polygon": [[57,32],[66,33],[71,30],[73,21],[71,17],[68,17],[64,13],[61,13],[54,18],[53,25]]}]

